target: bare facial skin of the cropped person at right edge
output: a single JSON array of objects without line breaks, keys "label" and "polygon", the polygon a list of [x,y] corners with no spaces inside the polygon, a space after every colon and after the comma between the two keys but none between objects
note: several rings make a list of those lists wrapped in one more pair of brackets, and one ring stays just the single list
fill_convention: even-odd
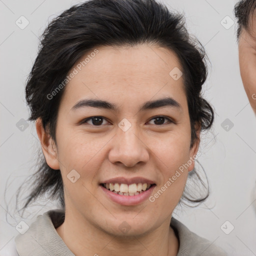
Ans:
[{"label": "bare facial skin of the cropped person at right edge", "polygon": [[244,90],[256,115],[256,23],[241,29],[238,41],[239,67]]}]

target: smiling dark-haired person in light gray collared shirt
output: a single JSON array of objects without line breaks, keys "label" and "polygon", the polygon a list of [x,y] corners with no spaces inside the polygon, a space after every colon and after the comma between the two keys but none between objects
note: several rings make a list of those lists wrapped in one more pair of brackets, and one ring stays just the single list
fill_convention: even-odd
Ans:
[{"label": "smiling dark-haired person in light gray collared shirt", "polygon": [[213,122],[205,58],[154,0],[90,0],[50,22],[25,90],[44,158],[24,207],[46,193],[61,207],[15,237],[17,255],[226,255],[172,217],[208,196],[185,193]]}]

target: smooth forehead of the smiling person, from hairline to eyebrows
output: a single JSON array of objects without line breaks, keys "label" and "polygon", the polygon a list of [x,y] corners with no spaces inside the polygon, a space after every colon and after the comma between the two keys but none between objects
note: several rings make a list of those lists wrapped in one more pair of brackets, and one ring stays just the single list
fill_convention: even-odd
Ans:
[{"label": "smooth forehead of the smiling person, from hairline to eyebrows", "polygon": [[149,100],[166,94],[177,101],[185,98],[183,76],[179,79],[172,76],[172,70],[181,73],[181,64],[167,48],[147,44],[96,47],[96,51],[86,52],[71,71],[74,69],[77,73],[67,83],[62,96],[66,103],[87,96],[114,97],[120,103],[122,99],[136,103],[135,99]]}]

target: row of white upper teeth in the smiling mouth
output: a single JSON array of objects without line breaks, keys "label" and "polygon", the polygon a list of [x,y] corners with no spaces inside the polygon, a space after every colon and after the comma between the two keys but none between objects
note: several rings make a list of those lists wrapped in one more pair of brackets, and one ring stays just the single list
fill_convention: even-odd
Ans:
[{"label": "row of white upper teeth in the smiling mouth", "polygon": [[145,191],[147,188],[150,187],[151,184],[147,183],[133,183],[133,184],[124,184],[124,183],[105,183],[103,184],[107,189],[110,191],[116,191],[121,193],[135,193],[141,190]]}]

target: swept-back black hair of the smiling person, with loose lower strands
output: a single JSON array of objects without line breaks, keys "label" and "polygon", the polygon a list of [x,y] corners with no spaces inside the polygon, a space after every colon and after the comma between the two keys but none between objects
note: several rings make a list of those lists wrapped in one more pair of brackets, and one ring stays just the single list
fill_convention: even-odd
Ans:
[{"label": "swept-back black hair of the smiling person, with loose lower strands", "polygon": [[[195,125],[199,124],[200,130],[209,129],[214,117],[210,104],[201,97],[207,77],[207,56],[201,43],[188,34],[183,15],[170,12],[155,0],[89,0],[54,18],[40,38],[38,55],[26,81],[29,120],[40,117],[44,129],[55,141],[57,111],[64,88],[52,100],[46,95],[54,91],[76,61],[93,48],[141,43],[163,46],[178,56],[189,109],[191,147],[198,139]],[[195,169],[189,172],[189,176],[193,175],[206,188],[206,195],[196,198],[184,191],[182,198],[201,202],[208,197],[208,182],[205,185]],[[34,188],[23,208],[46,192],[49,198],[65,206],[60,170],[51,169],[44,157],[33,173],[33,181]]]}]

